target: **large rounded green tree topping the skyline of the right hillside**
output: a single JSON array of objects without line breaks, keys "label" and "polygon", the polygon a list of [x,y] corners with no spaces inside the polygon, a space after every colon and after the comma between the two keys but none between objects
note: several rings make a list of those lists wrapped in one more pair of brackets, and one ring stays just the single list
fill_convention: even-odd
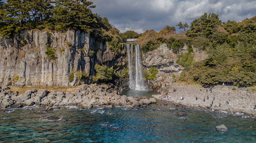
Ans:
[{"label": "large rounded green tree topping the skyline of the right hillside", "polygon": [[187,36],[196,37],[198,35],[210,36],[216,29],[216,26],[221,25],[218,15],[214,13],[204,13],[199,19],[192,21]]}]

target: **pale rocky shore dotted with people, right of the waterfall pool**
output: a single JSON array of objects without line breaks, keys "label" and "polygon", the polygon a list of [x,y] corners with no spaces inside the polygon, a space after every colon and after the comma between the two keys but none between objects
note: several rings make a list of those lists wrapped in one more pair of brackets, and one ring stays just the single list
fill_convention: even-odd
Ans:
[{"label": "pale rocky shore dotted with people, right of the waterfall pool", "polygon": [[[173,88],[176,89],[176,92],[173,92]],[[202,90],[200,90],[201,88]],[[232,90],[232,88],[236,88],[237,90]],[[206,92],[206,90],[208,91]],[[256,116],[256,110],[254,109],[256,105],[256,93],[246,90],[246,88],[216,86],[213,87],[212,92],[210,92],[209,88],[199,87],[198,85],[188,86],[174,83],[167,91],[168,96],[170,97],[169,99],[159,99],[161,95],[153,95],[153,97],[157,100],[166,100],[167,102],[172,102],[173,104],[179,104],[181,106],[242,112],[250,116]],[[165,94],[166,91],[163,91],[162,93]],[[181,97],[183,97],[184,100],[180,100]],[[203,101],[204,98],[205,102]]]}]

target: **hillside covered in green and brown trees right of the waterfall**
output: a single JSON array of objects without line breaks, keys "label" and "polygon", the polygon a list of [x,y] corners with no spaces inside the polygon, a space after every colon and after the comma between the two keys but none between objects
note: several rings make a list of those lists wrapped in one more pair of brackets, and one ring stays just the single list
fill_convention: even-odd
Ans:
[{"label": "hillside covered in green and brown trees right of the waterfall", "polygon": [[[188,27],[181,22],[180,28]],[[185,25],[185,26],[184,26]],[[256,85],[256,16],[242,22],[222,23],[218,15],[204,13],[192,21],[185,34],[163,28],[160,32],[145,31],[139,37],[142,51],[148,52],[166,43],[172,50],[188,45],[188,53],[178,55],[177,63],[185,68],[179,80],[214,85],[230,83],[236,86]],[[193,61],[193,48],[208,53],[203,61]]]}]

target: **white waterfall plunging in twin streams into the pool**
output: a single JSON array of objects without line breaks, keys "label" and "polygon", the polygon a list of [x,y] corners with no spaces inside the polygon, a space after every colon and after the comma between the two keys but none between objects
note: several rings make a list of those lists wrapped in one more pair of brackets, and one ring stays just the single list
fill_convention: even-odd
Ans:
[{"label": "white waterfall plunging in twin streams into the pool", "polygon": [[142,73],[139,44],[134,46],[134,51],[135,54],[133,54],[133,45],[127,44],[129,87],[131,90],[146,90]]}]

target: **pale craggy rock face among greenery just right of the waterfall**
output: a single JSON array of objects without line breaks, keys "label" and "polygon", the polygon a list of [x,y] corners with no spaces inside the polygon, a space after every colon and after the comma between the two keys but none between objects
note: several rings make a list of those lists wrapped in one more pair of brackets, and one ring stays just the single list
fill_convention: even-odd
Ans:
[{"label": "pale craggy rock face among greenery just right of the waterfall", "polygon": [[[185,46],[178,51],[174,51],[168,48],[166,44],[162,44],[158,49],[143,54],[143,67],[146,69],[149,67],[157,67],[158,69],[156,78],[147,81],[148,89],[160,92],[164,88],[168,88],[172,85],[175,80],[173,79],[173,75],[177,77],[182,69],[184,69],[182,65],[176,63],[177,55],[188,52],[187,48],[185,44]],[[199,51],[197,48],[193,48],[193,54],[193,60],[195,61],[204,60],[208,57],[206,52]]]}]

